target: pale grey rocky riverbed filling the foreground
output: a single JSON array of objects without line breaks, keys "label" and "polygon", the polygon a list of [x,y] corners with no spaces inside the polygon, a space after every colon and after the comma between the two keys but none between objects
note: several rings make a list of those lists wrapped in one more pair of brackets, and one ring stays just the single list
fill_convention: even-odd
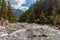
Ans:
[{"label": "pale grey rocky riverbed filling the foreground", "polygon": [[0,27],[0,40],[60,40],[60,30],[35,23],[13,23]]}]

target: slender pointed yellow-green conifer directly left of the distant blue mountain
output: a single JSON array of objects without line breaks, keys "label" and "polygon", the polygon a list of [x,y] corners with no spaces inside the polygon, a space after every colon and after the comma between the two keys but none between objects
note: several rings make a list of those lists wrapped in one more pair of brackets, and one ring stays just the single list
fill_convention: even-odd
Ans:
[{"label": "slender pointed yellow-green conifer directly left of the distant blue mountain", "polygon": [[9,22],[16,22],[16,18],[12,12],[12,9],[11,9],[11,5],[10,5],[10,2],[8,1],[8,13],[7,13],[7,17],[8,17],[8,20]]}]

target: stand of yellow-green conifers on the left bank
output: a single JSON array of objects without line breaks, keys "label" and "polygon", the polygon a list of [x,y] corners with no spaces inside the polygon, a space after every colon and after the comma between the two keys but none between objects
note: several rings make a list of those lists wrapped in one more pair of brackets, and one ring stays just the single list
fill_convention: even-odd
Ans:
[{"label": "stand of yellow-green conifers on the left bank", "polygon": [[0,11],[0,19],[3,17],[4,19],[8,19],[9,22],[16,22],[16,18],[14,17],[14,14],[11,10],[11,5],[8,2],[8,5],[6,4],[5,0],[1,0],[1,11]]}]

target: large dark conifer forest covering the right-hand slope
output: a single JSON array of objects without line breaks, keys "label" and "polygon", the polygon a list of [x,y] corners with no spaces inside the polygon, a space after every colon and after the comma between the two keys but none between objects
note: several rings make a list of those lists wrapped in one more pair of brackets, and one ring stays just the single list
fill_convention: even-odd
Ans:
[{"label": "large dark conifer forest covering the right-hand slope", "polygon": [[37,1],[20,16],[20,20],[41,24],[58,24],[60,23],[60,0]]}]

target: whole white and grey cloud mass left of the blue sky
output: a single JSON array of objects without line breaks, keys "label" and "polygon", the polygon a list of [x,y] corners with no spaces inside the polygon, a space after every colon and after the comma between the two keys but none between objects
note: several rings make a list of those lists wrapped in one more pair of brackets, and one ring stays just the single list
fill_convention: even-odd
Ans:
[{"label": "whole white and grey cloud mass left of the blue sky", "polygon": [[11,6],[14,9],[21,9],[23,11],[25,11],[26,9],[28,9],[28,7],[22,6],[22,4],[25,4],[26,3],[26,0],[9,0],[9,1],[11,3]]}]

